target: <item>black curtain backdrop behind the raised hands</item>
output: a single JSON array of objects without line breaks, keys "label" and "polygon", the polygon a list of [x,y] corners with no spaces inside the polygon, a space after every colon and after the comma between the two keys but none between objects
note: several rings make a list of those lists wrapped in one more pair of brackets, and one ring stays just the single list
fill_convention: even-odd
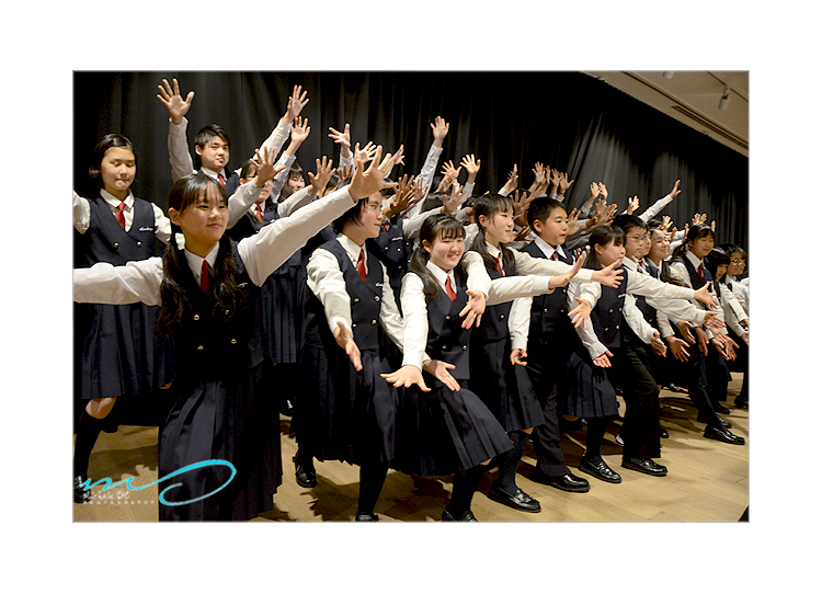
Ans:
[{"label": "black curtain backdrop behind the raised hands", "polygon": [[395,175],[415,174],[431,146],[430,123],[442,115],[450,132],[441,163],[476,155],[479,192],[501,187],[514,163],[527,187],[541,161],[575,180],[571,207],[585,201],[592,181],[603,181],[608,202],[621,212],[638,195],[641,213],[681,179],[683,193],[662,214],[682,228],[695,212],[707,213],[719,242],[747,247],[747,158],[578,72],[76,72],[75,187],[96,140],[118,133],[137,148],[135,194],[165,209],[168,112],[156,96],[163,78],[178,78],[183,96],[196,93],[190,145],[206,124],[227,129],[231,169],[253,155],[294,84],[302,84],[310,99],[302,115],[311,125],[297,153],[304,169],[322,155],[338,159],[328,128],[347,122],[354,142],[373,140],[390,151],[404,144],[406,167]]}]

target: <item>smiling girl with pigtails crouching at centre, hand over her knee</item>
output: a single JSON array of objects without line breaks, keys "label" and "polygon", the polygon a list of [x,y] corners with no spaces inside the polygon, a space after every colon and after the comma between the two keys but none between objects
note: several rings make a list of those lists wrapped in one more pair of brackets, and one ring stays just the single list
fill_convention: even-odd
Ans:
[{"label": "smiling girl with pigtails crouching at centre, hand over her knee", "polygon": [[[470,509],[477,486],[488,464],[510,452],[513,444],[468,386],[470,335],[476,324],[463,316],[478,292],[483,306],[538,295],[567,283],[579,269],[564,276],[520,276],[491,283],[484,266],[467,271],[464,253],[465,227],[456,218],[438,214],[423,222],[411,272],[402,282],[403,366],[384,377],[400,388],[393,467],[423,477],[455,473],[442,519],[477,522]],[[513,283],[504,285],[509,281]],[[488,300],[483,292],[489,294]],[[433,376],[427,378],[433,381],[431,388],[423,369]]]}]

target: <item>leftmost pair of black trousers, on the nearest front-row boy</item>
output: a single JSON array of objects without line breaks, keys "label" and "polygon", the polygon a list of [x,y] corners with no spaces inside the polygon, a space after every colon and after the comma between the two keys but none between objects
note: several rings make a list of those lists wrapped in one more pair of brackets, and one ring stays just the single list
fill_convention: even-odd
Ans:
[{"label": "leftmost pair of black trousers, on the nearest front-row boy", "polygon": [[557,388],[567,357],[567,352],[558,349],[555,341],[546,341],[541,336],[528,341],[528,365],[525,368],[545,418],[545,424],[534,427],[530,439],[537,455],[537,469],[548,477],[563,477],[569,472],[562,455],[557,418]]}]

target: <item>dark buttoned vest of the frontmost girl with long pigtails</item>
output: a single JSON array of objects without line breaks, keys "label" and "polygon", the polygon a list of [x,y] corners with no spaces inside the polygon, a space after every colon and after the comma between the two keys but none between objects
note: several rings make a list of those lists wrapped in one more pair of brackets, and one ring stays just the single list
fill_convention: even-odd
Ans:
[{"label": "dark buttoned vest of the frontmost girl with long pigtails", "polygon": [[233,242],[231,248],[244,296],[233,316],[225,310],[215,311],[213,296],[203,293],[185,263],[183,277],[176,279],[185,289],[189,304],[182,328],[173,336],[179,366],[175,381],[220,379],[263,362],[260,288],[251,282]]}]

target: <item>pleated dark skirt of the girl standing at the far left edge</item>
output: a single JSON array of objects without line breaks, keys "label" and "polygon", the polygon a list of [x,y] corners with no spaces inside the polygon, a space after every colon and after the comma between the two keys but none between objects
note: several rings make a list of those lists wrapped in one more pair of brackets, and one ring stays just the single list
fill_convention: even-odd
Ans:
[{"label": "pleated dark skirt of the girl standing at the far left edge", "polygon": [[156,329],[159,312],[144,304],[75,307],[80,398],[149,393],[173,379],[173,351]]}]

